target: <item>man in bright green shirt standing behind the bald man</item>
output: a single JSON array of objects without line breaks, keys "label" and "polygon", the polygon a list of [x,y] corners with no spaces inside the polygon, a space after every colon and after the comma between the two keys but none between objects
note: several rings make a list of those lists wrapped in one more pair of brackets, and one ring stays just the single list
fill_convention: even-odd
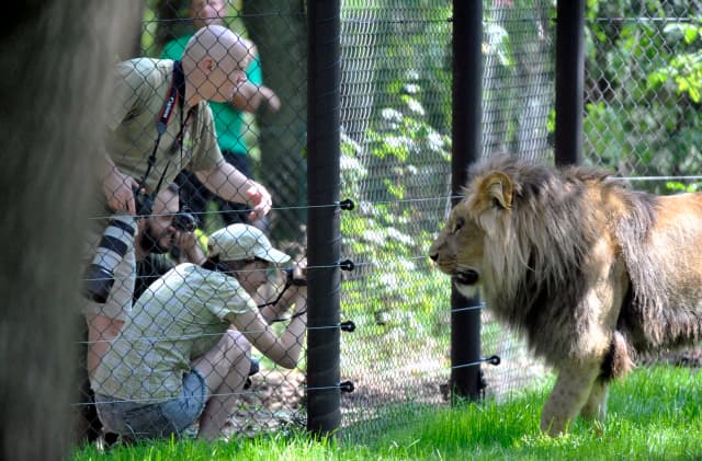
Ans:
[{"label": "man in bright green shirt standing behind the bald man", "polygon": [[[227,5],[224,0],[192,0],[190,3],[190,18],[193,20],[195,30],[212,24],[222,25],[222,18],[226,12]],[[180,59],[192,35],[185,35],[167,43],[161,58]],[[244,112],[273,113],[280,108],[280,101],[270,88],[263,85],[261,64],[253,43],[247,39],[244,39],[244,43],[251,56],[251,64],[246,69],[246,82],[237,88],[231,101],[211,102],[210,106],[215,117],[217,143],[222,154],[246,176],[253,177],[249,147],[246,141],[246,131],[249,127],[245,123]],[[177,181],[181,187],[183,200],[197,217],[201,227],[211,199],[219,206],[225,224],[249,222],[242,205],[227,201],[212,194],[194,174],[182,172]]]}]

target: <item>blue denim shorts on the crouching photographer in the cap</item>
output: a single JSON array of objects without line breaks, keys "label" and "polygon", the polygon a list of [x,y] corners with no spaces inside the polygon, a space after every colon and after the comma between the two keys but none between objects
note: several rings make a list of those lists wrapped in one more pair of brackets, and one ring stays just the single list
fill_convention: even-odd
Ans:
[{"label": "blue denim shorts on the crouching photographer in the cap", "polygon": [[133,439],[179,436],[193,424],[207,403],[205,379],[196,370],[183,376],[183,392],[177,399],[144,404],[95,394],[95,406],[105,430]]}]

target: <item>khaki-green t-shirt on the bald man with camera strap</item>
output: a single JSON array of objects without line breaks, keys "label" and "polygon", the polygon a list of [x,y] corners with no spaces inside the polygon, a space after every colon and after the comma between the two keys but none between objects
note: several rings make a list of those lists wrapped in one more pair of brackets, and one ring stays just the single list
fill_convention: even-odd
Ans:
[{"label": "khaki-green t-shirt on the bald man with camera strap", "polygon": [[[172,74],[173,61],[169,59],[136,58],[116,66],[105,148],[120,171],[136,180],[144,176],[154,150],[156,123],[169,93]],[[184,129],[183,147],[177,149],[174,141],[180,131],[180,117],[177,104],[146,181],[148,192],[156,188],[165,171],[162,184],[168,185],[183,169],[208,171],[224,161],[207,103],[202,101],[194,107]]]}]

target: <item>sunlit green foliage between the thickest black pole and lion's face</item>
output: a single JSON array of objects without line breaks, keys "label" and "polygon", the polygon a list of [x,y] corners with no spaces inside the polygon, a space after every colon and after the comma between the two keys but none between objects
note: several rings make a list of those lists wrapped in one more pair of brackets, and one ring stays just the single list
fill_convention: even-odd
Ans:
[{"label": "sunlit green foliage between the thickest black pole and lion's face", "polygon": [[343,285],[343,315],[359,325],[348,342],[374,344],[387,360],[398,339],[428,345],[440,322],[433,313],[449,306],[450,292],[427,257],[437,207],[412,201],[445,182],[435,169],[449,164],[450,140],[428,123],[416,80],[393,81],[389,90],[390,106],[367,130],[367,141],[342,138],[340,161],[341,197],[356,203],[340,220],[342,253],[356,264]]}]

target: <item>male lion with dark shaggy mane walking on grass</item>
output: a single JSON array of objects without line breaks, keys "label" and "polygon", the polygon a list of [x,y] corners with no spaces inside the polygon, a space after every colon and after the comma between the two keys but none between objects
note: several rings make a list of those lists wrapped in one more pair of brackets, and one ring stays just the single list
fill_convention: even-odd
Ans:
[{"label": "male lion with dark shaggy mane walking on grass", "polygon": [[608,385],[637,354],[700,339],[702,193],[657,196],[512,157],[468,173],[429,256],[557,373],[543,431],[603,422]]}]

